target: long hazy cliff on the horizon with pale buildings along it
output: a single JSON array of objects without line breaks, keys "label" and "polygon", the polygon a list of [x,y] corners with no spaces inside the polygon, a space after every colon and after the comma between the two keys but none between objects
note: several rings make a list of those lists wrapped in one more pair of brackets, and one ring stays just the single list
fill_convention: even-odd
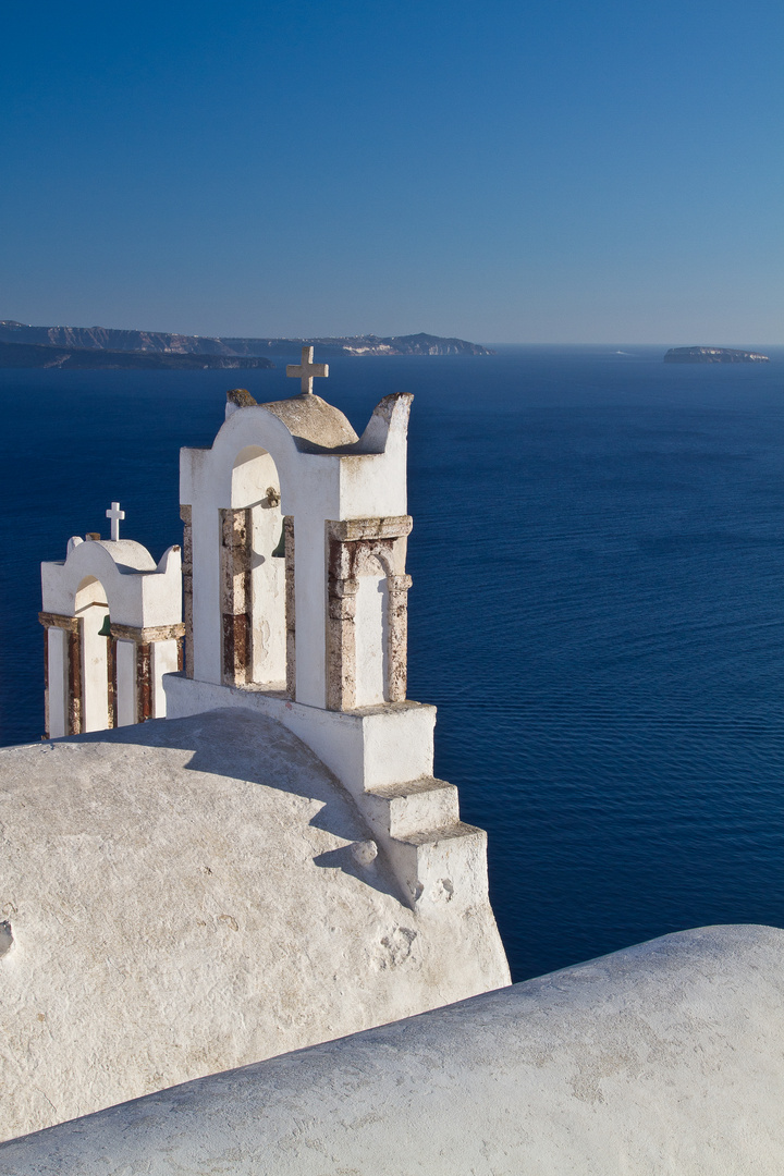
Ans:
[{"label": "long hazy cliff on the horizon with pale buildings along it", "polygon": [[[233,339],[172,335],[160,330],[115,330],[110,327],[28,327],[0,321],[0,342],[60,347],[67,350],[153,352],[174,355],[293,355],[310,343],[329,355],[492,355],[480,343],[438,335],[353,335],[313,339]],[[257,365],[254,365],[257,366]]]}]

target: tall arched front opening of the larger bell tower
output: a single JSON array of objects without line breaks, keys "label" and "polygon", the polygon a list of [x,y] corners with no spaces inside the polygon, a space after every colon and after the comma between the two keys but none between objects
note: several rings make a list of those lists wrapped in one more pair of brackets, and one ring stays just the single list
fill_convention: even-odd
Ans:
[{"label": "tall arched front opening of the larger bell tower", "polygon": [[232,470],[221,512],[223,681],[286,689],[286,537],[277,467],[257,446]]}]

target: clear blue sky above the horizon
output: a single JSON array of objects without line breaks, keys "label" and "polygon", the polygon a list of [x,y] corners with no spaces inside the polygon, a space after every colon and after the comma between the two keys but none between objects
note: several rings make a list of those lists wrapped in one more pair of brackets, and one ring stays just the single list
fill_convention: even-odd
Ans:
[{"label": "clear blue sky above the horizon", "polygon": [[784,342],[780,0],[2,24],[0,318]]}]

